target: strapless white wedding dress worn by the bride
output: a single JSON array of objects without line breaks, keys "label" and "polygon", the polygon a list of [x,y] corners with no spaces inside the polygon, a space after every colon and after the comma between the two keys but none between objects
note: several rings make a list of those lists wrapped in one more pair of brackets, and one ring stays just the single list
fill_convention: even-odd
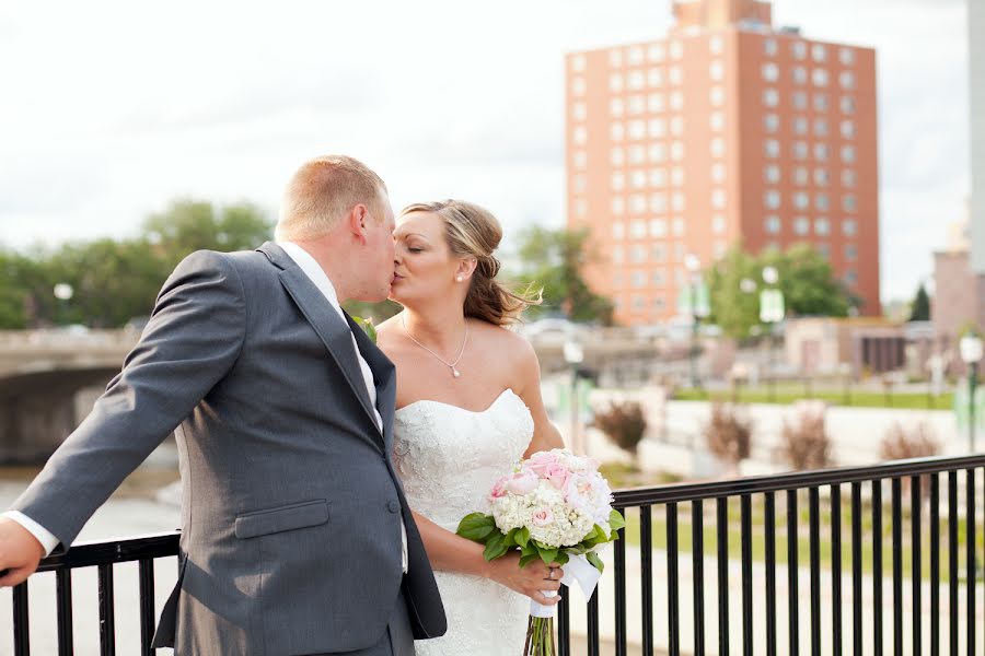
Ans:
[{"label": "strapless white wedding dress worn by the bride", "polygon": [[[510,473],[533,437],[533,419],[511,389],[474,412],[440,401],[409,403],[394,415],[394,464],[407,502],[454,532],[465,515],[491,513],[489,491]],[[436,572],[448,633],[418,641],[424,656],[519,656],[530,599],[478,576]]]}]

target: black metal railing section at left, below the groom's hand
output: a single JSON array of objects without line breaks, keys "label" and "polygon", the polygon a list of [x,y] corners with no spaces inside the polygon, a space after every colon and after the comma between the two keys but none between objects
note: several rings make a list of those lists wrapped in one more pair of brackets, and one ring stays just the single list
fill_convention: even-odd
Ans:
[{"label": "black metal railing section at left, below the groom's hand", "polygon": [[[57,616],[58,654],[74,653],[72,622],[72,571],[80,567],[99,569],[100,654],[116,654],[116,609],[114,604],[113,566],[137,562],[140,586],[138,613],[140,617],[140,653],[152,656],[151,639],[154,635],[157,614],[154,609],[154,561],[175,558],[178,553],[178,534],[169,532],[112,542],[93,542],[73,546],[67,553],[51,555],[42,561],[38,572],[55,573],[55,605]],[[13,589],[13,653],[28,656],[30,617],[27,611],[28,584],[34,577]],[[2,651],[2,649],[0,649]]]}]

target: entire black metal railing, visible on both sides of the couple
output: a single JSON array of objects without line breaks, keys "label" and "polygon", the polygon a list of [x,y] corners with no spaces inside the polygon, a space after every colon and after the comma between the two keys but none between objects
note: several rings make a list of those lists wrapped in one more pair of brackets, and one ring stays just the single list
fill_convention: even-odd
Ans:
[{"label": "entire black metal railing, visible on both sides of the couple", "polygon": [[[572,633],[592,656],[625,655],[630,629],[644,654],[881,654],[890,642],[896,654],[936,654],[942,641],[971,654],[982,644],[985,455],[619,490],[615,502],[627,526],[592,598],[564,593],[560,656],[573,653]],[[101,654],[115,653],[113,565],[126,561],[140,563],[141,645],[152,654],[154,561],[176,553],[177,534],[165,534],[46,559],[59,654],[73,648],[72,571],[88,566],[99,567]],[[27,590],[13,593],[18,656],[30,653]],[[572,632],[576,618],[583,630]]]}]

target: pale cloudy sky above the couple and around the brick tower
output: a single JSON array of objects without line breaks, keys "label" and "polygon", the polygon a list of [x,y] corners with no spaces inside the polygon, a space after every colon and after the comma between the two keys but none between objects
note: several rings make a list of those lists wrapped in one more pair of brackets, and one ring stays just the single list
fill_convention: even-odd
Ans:
[{"label": "pale cloudy sky above the couple and around the brick tower", "polygon": [[[877,48],[883,301],[964,216],[963,0],[775,0],[774,23]],[[346,153],[393,206],[457,197],[510,236],[560,226],[564,55],[658,38],[670,0],[0,2],[0,246],[125,238],[174,198],[276,214]]]}]

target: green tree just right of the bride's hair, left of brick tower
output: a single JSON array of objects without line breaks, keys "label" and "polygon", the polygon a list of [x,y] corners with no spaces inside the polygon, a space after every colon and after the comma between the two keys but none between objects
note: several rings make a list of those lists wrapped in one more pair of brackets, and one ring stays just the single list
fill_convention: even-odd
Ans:
[{"label": "green tree just right of the bride's hair, left of brick tower", "polygon": [[595,259],[588,231],[533,226],[520,237],[521,269],[517,278],[544,290],[544,303],[529,316],[564,313],[575,321],[612,324],[612,303],[593,292],[583,271]]}]

